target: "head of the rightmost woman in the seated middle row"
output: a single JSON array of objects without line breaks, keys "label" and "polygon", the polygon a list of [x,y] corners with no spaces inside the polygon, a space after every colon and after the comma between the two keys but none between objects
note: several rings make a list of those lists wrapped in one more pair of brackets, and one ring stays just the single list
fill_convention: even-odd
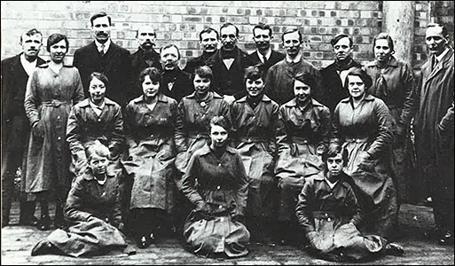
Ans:
[{"label": "head of the rightmost woman in the seated middle row", "polygon": [[349,68],[346,76],[344,87],[349,91],[350,97],[360,99],[365,96],[366,90],[373,84],[373,80],[369,74],[358,67]]}]

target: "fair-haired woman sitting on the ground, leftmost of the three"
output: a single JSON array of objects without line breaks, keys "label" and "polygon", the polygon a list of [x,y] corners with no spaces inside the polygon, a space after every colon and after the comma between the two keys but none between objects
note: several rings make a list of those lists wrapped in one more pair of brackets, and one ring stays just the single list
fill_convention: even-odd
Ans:
[{"label": "fair-haired woman sitting on the ground, leftmost of the three", "polygon": [[40,241],[32,255],[67,254],[74,257],[126,249],[121,231],[120,171],[107,169],[110,151],[98,141],[87,148],[89,166],[75,179],[68,194],[65,216],[71,226],[67,231],[51,232]]}]

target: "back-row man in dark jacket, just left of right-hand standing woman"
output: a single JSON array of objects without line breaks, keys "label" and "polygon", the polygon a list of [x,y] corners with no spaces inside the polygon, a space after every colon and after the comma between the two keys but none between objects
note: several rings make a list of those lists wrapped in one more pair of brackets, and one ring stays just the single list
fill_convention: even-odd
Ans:
[{"label": "back-row man in dark jacket, just left of right-hand standing woman", "polygon": [[329,107],[333,113],[336,105],[343,98],[349,97],[349,91],[344,89],[344,81],[350,67],[362,67],[362,64],[352,59],[352,39],[349,35],[336,35],[331,41],[335,61],[321,69],[323,82],[321,104]]}]

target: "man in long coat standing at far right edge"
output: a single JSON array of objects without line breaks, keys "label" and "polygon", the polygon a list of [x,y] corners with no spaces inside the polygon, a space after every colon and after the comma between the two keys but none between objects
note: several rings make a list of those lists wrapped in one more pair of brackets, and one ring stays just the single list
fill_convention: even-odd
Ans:
[{"label": "man in long coat standing at far right edge", "polygon": [[430,57],[422,66],[420,86],[404,102],[400,128],[405,129],[417,113],[413,129],[418,172],[427,179],[435,215],[435,231],[430,234],[441,245],[453,245],[453,49],[440,24],[428,24],[425,42]]}]

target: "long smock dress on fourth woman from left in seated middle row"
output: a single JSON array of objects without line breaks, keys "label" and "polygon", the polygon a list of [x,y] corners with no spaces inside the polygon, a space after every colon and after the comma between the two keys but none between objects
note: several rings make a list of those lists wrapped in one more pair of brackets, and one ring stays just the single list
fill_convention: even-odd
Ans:
[{"label": "long smock dress on fourth woman from left in seated middle row", "polygon": [[277,182],[273,170],[278,108],[266,95],[254,109],[247,97],[231,106],[233,146],[239,151],[249,183],[246,215],[258,220],[275,216]]}]

